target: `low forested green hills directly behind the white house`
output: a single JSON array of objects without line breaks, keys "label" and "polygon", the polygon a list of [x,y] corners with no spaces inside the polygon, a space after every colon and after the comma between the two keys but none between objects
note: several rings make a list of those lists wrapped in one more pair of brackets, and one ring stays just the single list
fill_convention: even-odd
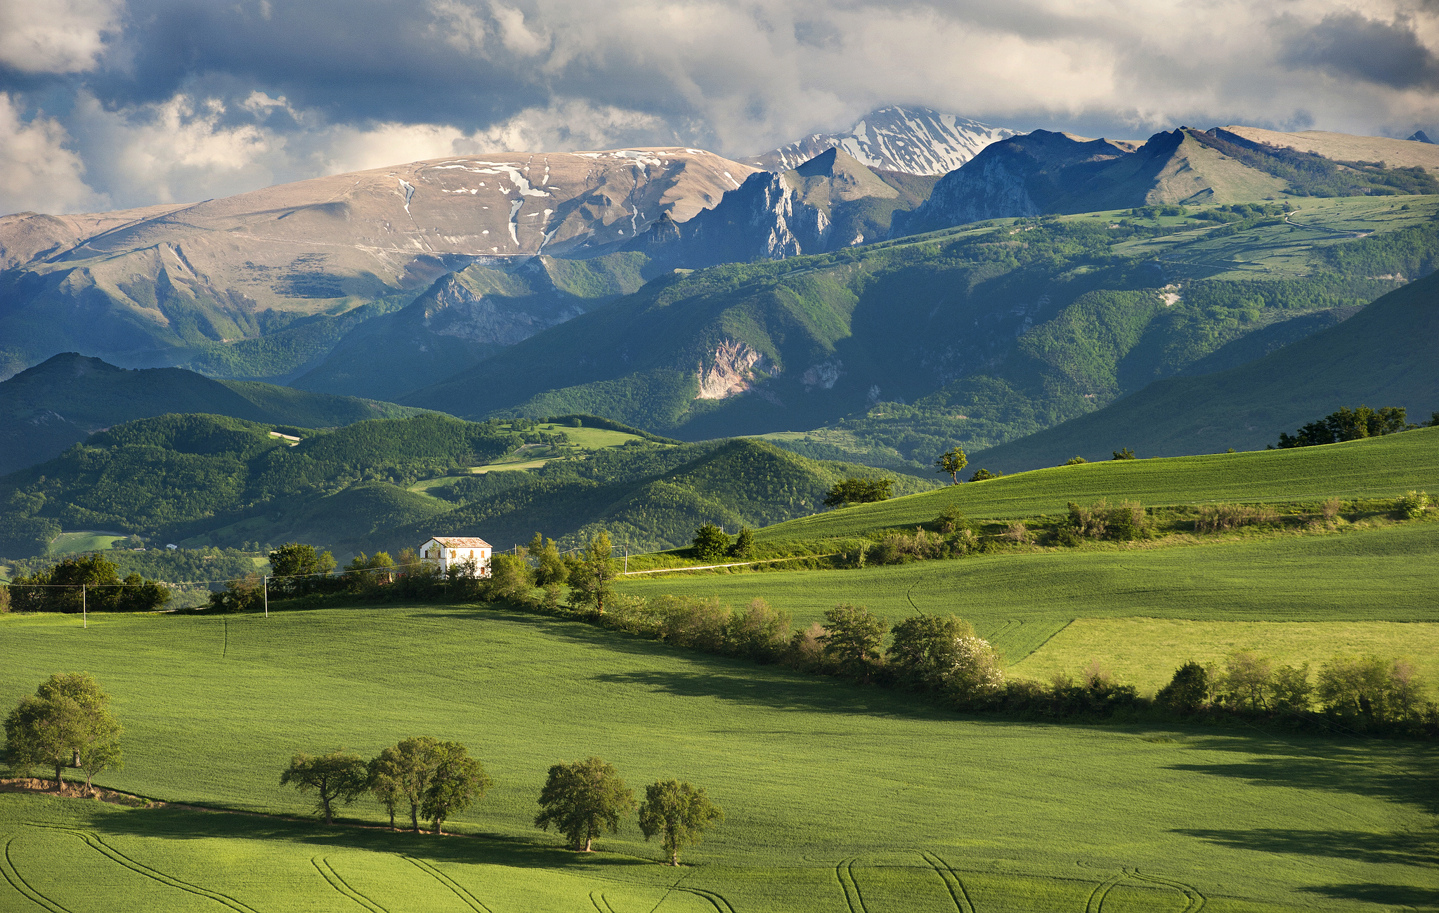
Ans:
[{"label": "low forested green hills directly behind the white house", "polygon": [[[688,542],[704,522],[760,526],[813,513],[846,476],[891,477],[758,441],[675,446],[640,437],[537,472],[471,476],[469,467],[505,454],[566,451],[550,447],[561,433],[435,414],[285,431],[302,440],[289,446],[272,426],[199,414],[94,434],[0,479],[0,555],[43,554],[62,529],[114,529],[187,546],[295,539],[350,554],[436,533],[499,543],[543,531],[577,542],[604,526],[648,549]],[[452,473],[463,474],[453,485],[407,487]],[[895,477],[894,485],[911,493],[938,482]]]}]

